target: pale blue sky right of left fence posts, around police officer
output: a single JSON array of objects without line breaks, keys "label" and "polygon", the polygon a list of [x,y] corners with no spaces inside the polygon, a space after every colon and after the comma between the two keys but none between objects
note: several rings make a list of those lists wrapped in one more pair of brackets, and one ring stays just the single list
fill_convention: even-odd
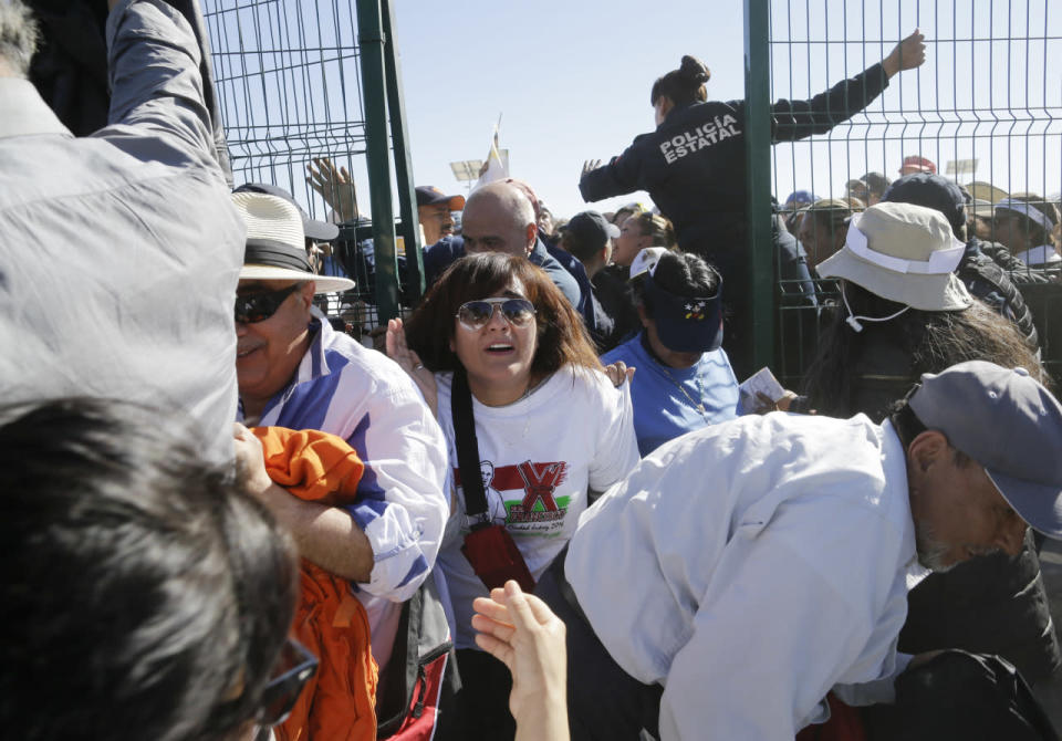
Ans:
[{"label": "pale blue sky right of left fence posts, around police officer", "polygon": [[[894,80],[868,117],[814,145],[775,147],[779,197],[795,187],[841,196],[850,174],[874,169],[895,177],[903,156],[916,152],[941,170],[949,159],[976,157],[977,176],[1007,190],[1058,191],[1062,127],[1045,131],[1023,112],[1007,111],[1032,106],[1041,117],[1045,107],[1062,114],[1062,67],[1053,64],[1045,72],[1044,64],[1049,54],[1059,59],[1062,41],[1042,40],[1062,36],[1062,13],[1045,21],[1048,6],[1044,0],[775,0],[774,38],[802,43],[773,46],[773,98],[810,97],[879,61],[915,28],[930,42],[927,64]],[[555,211],[571,215],[587,207],[576,187],[583,160],[618,154],[652,128],[649,88],[681,54],[711,69],[709,96],[743,97],[740,2],[548,0],[485,7],[397,0],[396,14],[415,174],[418,182],[444,189],[460,187],[447,163],[483,157],[502,113],[512,175],[531,182]],[[951,41],[1027,34],[1041,40]],[[821,43],[825,39],[834,43]],[[933,111],[938,104],[955,112],[938,114]],[[978,117],[981,123],[975,123]],[[633,199],[593,207],[608,210]]]}]

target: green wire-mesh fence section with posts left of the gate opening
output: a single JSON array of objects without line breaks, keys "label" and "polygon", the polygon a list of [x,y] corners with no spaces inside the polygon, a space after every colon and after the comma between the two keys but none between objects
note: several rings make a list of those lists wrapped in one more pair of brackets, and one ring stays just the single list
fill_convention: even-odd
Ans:
[{"label": "green wire-mesh fence section with posts left of the gate opening", "polygon": [[[423,269],[389,0],[204,0],[204,17],[236,185],[278,185],[342,221],[306,166],[345,167],[362,202],[330,261],[357,282],[343,313],[355,334],[396,316],[399,279],[416,298]],[[398,234],[413,248],[403,275]]]}]

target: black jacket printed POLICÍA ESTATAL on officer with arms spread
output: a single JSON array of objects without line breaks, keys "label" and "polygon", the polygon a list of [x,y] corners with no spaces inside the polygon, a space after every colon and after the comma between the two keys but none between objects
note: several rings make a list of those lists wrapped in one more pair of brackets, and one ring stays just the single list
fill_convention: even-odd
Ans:
[{"label": "black jacket printed POLIC\u00cdA ESTATAL on officer with arms spread", "polygon": [[[771,106],[771,139],[824,134],[865,108],[887,84],[875,64],[810,101],[778,101]],[[745,223],[745,101],[676,106],[655,132],[583,176],[583,200],[647,190],[675,225],[683,249],[704,254],[689,244]]]}]

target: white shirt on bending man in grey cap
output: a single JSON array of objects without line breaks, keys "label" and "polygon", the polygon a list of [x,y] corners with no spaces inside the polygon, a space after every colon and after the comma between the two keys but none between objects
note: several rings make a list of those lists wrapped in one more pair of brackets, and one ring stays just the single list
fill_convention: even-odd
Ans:
[{"label": "white shirt on bending man in grey cap", "polygon": [[665,443],[583,514],[565,563],[608,654],[664,686],[662,741],[792,739],[834,685],[893,675],[908,573],[904,449],[863,415]]}]

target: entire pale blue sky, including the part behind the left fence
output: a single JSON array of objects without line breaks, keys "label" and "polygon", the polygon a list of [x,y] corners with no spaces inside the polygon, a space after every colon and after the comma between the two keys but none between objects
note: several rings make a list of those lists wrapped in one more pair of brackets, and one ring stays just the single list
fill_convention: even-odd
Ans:
[{"label": "entire pale blue sky, including the part behind the left fence", "polygon": [[[393,2],[418,185],[464,192],[449,163],[483,158],[501,114],[511,174],[554,212],[611,210],[645,196],[587,206],[579,196],[580,168],[652,129],[649,88],[683,54],[711,69],[709,96],[745,94],[741,2]],[[1048,13],[1052,2],[774,0],[774,98],[822,92],[881,60],[916,27],[929,42],[926,65],[894,80],[866,115],[814,142],[775,146],[775,194],[812,188],[821,197],[842,196],[848,176],[879,170],[895,177],[903,156],[919,152],[941,170],[949,159],[977,158],[977,178],[1009,191],[1058,192],[1062,12]],[[238,49],[240,36],[249,49],[256,35],[277,50],[216,56],[221,79],[267,71],[261,82],[252,76],[249,85],[222,90],[230,138],[235,124],[270,124],[253,129],[260,142],[248,148],[252,175],[291,184],[316,213],[322,209],[302,180],[304,163],[313,153],[332,154],[352,167],[367,211],[364,158],[344,156],[351,146],[344,122],[362,115],[353,0],[243,2],[239,11],[236,0],[206,0],[205,7],[229,11],[226,23],[208,22],[216,52]],[[1007,41],[1025,36],[1034,40]],[[323,51],[298,51],[306,46]]]}]

